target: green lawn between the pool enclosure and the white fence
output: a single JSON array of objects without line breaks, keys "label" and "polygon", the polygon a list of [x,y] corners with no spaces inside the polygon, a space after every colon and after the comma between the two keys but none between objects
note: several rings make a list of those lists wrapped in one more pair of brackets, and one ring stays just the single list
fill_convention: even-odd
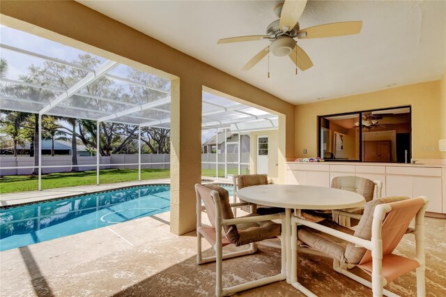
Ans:
[{"label": "green lawn between the pool enclosure and the white fence", "polygon": [[[228,174],[237,174],[237,169],[228,169]],[[215,169],[201,169],[202,176],[215,177]],[[224,177],[224,169],[219,169],[219,177]],[[169,169],[141,169],[141,179],[169,178]],[[100,183],[121,183],[137,181],[137,169],[103,169],[100,171]],[[42,189],[74,187],[76,185],[95,185],[96,171],[61,172],[44,174]],[[0,194],[26,192],[38,189],[38,177],[29,175],[10,175],[0,177]]]}]

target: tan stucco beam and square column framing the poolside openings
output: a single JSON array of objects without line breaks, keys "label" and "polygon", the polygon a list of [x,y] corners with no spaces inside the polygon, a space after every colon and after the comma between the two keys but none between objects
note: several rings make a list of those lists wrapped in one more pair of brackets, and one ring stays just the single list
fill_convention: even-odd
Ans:
[{"label": "tan stucco beam and square column framing the poolside openings", "polygon": [[170,225],[176,234],[195,229],[202,86],[280,114],[279,172],[294,155],[294,105],[288,102],[75,1],[1,1],[0,13],[1,24],[173,79]]}]

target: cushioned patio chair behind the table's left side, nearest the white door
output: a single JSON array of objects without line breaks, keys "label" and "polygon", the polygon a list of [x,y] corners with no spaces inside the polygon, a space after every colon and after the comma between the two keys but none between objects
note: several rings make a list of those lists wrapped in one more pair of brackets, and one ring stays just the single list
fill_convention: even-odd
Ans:
[{"label": "cushioned patio chair behind the table's left side, nearest the white door", "polygon": [[[243,174],[243,175],[234,175],[232,177],[233,181],[233,203],[237,203],[237,195],[236,192],[240,189],[250,187],[252,185],[268,185],[268,176],[266,174]],[[240,199],[240,202],[245,202]],[[241,206],[245,211],[249,211],[250,213],[259,213],[260,215],[272,215],[275,213],[284,213],[284,208],[279,207],[270,207],[270,206],[257,206],[256,204],[249,204],[250,210],[246,208],[246,206]],[[234,207],[233,213],[237,216],[237,208]]]}]

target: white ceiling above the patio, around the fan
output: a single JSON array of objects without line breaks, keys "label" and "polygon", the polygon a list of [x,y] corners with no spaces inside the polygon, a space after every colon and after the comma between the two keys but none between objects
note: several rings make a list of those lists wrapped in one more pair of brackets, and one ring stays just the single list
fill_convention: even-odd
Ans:
[{"label": "white ceiling above the patio, around the fan", "polygon": [[289,57],[240,69],[268,40],[279,1],[79,1],[294,104],[440,79],[446,68],[446,1],[308,1],[300,27],[362,20],[359,35],[299,40],[314,66],[295,75]]}]

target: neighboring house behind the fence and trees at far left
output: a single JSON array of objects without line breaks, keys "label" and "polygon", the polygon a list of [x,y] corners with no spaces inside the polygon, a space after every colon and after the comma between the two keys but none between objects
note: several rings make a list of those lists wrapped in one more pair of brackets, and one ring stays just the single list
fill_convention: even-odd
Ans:
[{"label": "neighboring house behind the fence and trees at far left", "polygon": [[[31,151],[31,144],[25,144],[24,146],[17,146],[17,150],[22,155],[29,155]],[[42,155],[51,155],[52,142],[51,140],[42,140]],[[14,155],[13,147],[1,148],[0,155]],[[63,140],[54,140],[54,155],[72,155],[71,142]],[[88,156],[86,146],[83,144],[77,144],[77,155]]]}]

